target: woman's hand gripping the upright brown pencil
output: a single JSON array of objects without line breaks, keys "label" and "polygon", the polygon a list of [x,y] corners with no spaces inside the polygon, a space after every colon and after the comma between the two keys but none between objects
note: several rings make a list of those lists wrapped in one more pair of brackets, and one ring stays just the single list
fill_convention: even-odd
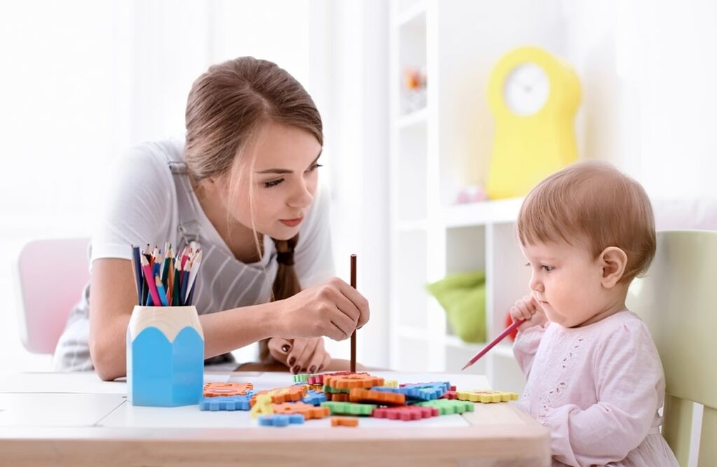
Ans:
[{"label": "woman's hand gripping the upright brown pencil", "polygon": [[327,336],[342,341],[369,321],[369,301],[339,278],[307,288],[282,302],[282,336]]}]

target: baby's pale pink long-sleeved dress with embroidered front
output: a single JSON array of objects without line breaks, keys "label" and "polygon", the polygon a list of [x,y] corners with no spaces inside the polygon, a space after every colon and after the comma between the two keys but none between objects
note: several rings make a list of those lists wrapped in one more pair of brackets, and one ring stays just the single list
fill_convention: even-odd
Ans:
[{"label": "baby's pale pink long-sleeved dress with embroidered front", "polygon": [[678,466],[659,430],[663,366],[635,313],[533,326],[513,353],[528,378],[518,406],[550,430],[554,466]]}]

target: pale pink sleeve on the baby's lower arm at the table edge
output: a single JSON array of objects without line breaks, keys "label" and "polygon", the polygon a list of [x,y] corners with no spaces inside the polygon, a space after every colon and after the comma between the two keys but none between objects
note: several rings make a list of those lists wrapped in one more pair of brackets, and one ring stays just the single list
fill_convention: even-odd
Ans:
[{"label": "pale pink sleeve on the baby's lower arm at the table edge", "polygon": [[538,416],[551,431],[554,458],[571,466],[604,465],[627,457],[647,437],[665,390],[660,358],[640,321],[612,331],[595,356],[594,382],[590,377],[576,381],[591,390],[594,384],[597,404],[563,405]]}]

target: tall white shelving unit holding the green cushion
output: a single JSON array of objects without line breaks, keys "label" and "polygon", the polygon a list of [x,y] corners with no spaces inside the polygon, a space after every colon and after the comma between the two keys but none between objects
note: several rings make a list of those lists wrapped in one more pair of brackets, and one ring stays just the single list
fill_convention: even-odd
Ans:
[{"label": "tall white shelving unit holding the green cushion", "polygon": [[[480,2],[479,2],[480,3]],[[485,344],[451,334],[425,285],[459,271],[485,270],[488,341],[529,278],[515,240],[521,199],[451,205],[450,193],[474,155],[466,121],[471,93],[459,70],[474,70],[470,12],[437,0],[393,0],[389,21],[391,98],[390,364],[407,371],[458,372]],[[460,44],[460,47],[459,47]],[[405,67],[425,67],[424,108],[407,111]],[[485,133],[485,132],[483,132]],[[481,133],[481,134],[483,134]],[[487,374],[493,387],[520,392],[525,379],[511,342],[496,346],[467,372]]]}]

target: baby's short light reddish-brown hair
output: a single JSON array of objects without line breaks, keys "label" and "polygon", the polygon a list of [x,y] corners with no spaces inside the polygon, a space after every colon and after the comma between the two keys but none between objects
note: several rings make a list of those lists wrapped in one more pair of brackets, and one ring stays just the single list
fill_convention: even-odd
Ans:
[{"label": "baby's short light reddish-brown hair", "polygon": [[585,161],[541,181],[518,213],[523,245],[587,238],[595,258],[607,247],[627,255],[621,283],[630,283],[655,256],[655,217],[647,193],[611,164]]}]

